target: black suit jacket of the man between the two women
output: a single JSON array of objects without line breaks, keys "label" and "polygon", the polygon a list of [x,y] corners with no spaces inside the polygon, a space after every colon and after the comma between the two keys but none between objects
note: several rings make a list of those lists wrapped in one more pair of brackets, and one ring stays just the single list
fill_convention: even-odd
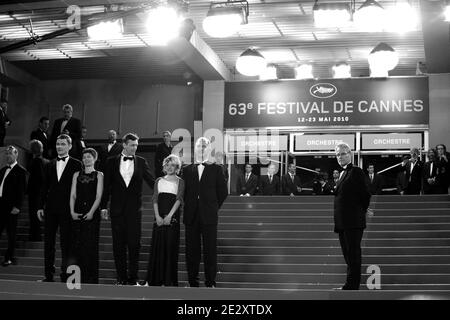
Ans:
[{"label": "black suit jacket of the man between the two women", "polygon": [[104,172],[104,189],[101,208],[106,209],[111,198],[111,216],[138,215],[142,208],[142,184],[143,181],[153,188],[155,178],[150,172],[147,160],[135,156],[134,172],[128,187],[120,174],[121,155],[111,157],[106,162]]}]

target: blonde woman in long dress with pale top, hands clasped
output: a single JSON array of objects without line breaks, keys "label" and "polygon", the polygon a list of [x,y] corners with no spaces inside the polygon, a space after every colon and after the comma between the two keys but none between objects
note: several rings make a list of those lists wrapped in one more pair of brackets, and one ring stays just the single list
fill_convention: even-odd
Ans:
[{"label": "blonde woman in long dress with pale top, hands clasped", "polygon": [[163,160],[164,176],[155,182],[153,224],[147,283],[151,286],[178,286],[178,250],[180,212],[183,207],[184,181],[177,176],[180,158],[169,155]]}]

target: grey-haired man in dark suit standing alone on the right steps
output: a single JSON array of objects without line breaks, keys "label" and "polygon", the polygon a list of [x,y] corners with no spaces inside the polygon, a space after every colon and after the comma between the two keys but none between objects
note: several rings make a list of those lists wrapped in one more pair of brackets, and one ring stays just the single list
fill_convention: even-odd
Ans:
[{"label": "grey-haired man in dark suit standing alone on the right steps", "polygon": [[366,214],[370,203],[370,192],[364,172],[351,163],[352,152],[348,144],[336,146],[336,158],[344,169],[334,198],[334,232],[347,264],[347,280],[342,290],[358,290],[361,282],[361,239],[366,228]]}]

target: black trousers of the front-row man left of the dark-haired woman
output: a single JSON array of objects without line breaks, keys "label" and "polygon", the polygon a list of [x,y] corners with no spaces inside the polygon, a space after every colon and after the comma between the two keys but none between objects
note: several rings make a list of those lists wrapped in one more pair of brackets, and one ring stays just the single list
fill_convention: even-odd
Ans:
[{"label": "black trousers of the front-row man left of the dark-haired woman", "polygon": [[44,257],[45,277],[53,279],[55,274],[55,243],[56,232],[59,229],[59,240],[61,246],[61,281],[67,280],[67,267],[75,261],[71,255],[71,232],[72,221],[68,212],[53,213],[45,212],[44,218]]}]

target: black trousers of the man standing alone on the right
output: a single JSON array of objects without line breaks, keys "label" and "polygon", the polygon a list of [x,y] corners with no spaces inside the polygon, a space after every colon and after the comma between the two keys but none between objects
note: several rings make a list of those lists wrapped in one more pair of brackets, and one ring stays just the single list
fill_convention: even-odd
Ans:
[{"label": "black trousers of the man standing alone on the right", "polygon": [[344,287],[358,290],[361,283],[361,240],[364,229],[339,231],[339,242],[347,264],[347,280]]}]

